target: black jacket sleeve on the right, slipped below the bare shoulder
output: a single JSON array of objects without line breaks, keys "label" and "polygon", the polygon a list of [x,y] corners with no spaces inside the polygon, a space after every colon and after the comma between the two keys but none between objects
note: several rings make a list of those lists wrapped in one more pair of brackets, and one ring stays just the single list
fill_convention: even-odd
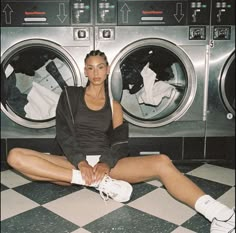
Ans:
[{"label": "black jacket sleeve on the right, slipped below the bare shoulder", "polygon": [[111,142],[110,149],[104,151],[100,157],[100,162],[107,163],[110,168],[113,168],[118,160],[127,157],[129,155],[128,134],[127,122],[112,129],[108,134]]}]

